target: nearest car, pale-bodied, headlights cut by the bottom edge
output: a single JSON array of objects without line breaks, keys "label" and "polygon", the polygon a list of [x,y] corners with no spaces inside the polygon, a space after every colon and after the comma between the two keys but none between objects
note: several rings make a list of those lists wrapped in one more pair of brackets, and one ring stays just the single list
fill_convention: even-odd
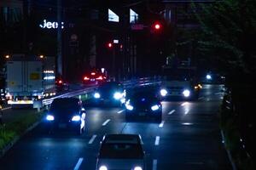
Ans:
[{"label": "nearest car, pale-bodied, headlights cut by the bottom edge", "polygon": [[138,134],[107,134],[103,137],[96,170],[143,170],[145,152]]}]

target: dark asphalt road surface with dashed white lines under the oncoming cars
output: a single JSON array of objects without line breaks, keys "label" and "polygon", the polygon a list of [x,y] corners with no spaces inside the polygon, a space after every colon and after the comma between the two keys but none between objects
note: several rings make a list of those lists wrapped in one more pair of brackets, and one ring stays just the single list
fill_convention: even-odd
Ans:
[{"label": "dark asphalt road surface with dashed white lines under the oncoming cars", "polygon": [[96,169],[106,133],[139,133],[148,170],[231,169],[218,127],[221,86],[205,85],[198,101],[164,101],[163,121],[125,122],[122,108],[86,108],[86,132],[27,133],[0,160],[0,169]]}]

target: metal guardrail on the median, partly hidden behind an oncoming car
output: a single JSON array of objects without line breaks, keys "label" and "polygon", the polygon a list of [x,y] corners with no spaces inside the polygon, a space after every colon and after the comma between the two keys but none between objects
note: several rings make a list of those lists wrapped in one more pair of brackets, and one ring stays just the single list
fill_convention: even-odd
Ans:
[{"label": "metal guardrail on the median, partly hidden behind an oncoming car", "polygon": [[[149,86],[149,85],[158,85],[161,82],[161,77],[143,77],[138,79],[131,79],[129,81],[122,82],[125,88],[136,88],[141,86]],[[40,105],[50,105],[54,99],[57,98],[71,98],[74,96],[79,96],[82,94],[89,94],[93,92],[97,88],[96,86],[93,87],[86,87],[79,90],[75,90],[73,92],[68,92],[66,94],[60,94],[56,95],[55,97],[49,98],[49,99],[43,99],[40,102],[42,104],[38,104],[38,106],[34,106],[34,108],[38,108]]]}]

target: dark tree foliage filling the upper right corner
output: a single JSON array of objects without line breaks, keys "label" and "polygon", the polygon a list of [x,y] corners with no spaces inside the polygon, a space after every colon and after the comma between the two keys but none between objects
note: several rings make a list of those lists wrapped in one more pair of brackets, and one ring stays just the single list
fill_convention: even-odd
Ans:
[{"label": "dark tree foliage filling the upper right corner", "polygon": [[192,4],[201,24],[199,49],[234,71],[256,71],[256,1]]}]

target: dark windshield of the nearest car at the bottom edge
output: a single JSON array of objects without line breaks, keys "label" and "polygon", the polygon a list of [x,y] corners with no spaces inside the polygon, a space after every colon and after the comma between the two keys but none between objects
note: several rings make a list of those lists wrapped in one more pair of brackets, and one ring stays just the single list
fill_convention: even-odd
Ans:
[{"label": "dark windshield of the nearest car at the bottom edge", "polygon": [[100,158],[143,159],[143,149],[140,144],[102,144]]}]

